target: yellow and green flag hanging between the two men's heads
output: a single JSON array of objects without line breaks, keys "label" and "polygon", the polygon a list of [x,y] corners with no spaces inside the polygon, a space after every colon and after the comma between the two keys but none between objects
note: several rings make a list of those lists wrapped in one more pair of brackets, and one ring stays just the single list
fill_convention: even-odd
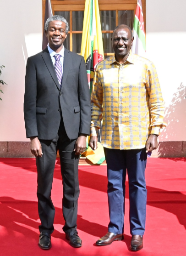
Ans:
[{"label": "yellow and green flag hanging between the two men's heads", "polygon": [[91,94],[94,70],[104,59],[98,0],[85,1],[81,55],[85,58]]}]

